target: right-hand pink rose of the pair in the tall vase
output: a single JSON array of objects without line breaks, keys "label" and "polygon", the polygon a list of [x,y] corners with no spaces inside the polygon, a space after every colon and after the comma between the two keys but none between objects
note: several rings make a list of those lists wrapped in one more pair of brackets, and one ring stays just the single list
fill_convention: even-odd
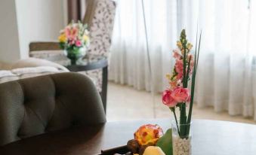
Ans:
[{"label": "right-hand pink rose of the pair in the tall vase", "polygon": [[187,88],[177,87],[173,90],[171,93],[171,97],[176,102],[187,102],[187,99],[189,99],[189,90]]}]

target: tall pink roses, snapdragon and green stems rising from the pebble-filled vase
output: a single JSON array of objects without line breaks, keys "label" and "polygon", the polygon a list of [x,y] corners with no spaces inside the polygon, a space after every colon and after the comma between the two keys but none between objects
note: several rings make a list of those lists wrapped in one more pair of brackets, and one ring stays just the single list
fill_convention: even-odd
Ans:
[{"label": "tall pink roses, snapdragon and green stems rising from the pebble-filled vase", "polygon": [[[177,50],[173,50],[175,59],[172,74],[167,74],[166,78],[169,87],[162,93],[162,102],[174,113],[177,132],[180,138],[189,138],[190,122],[193,109],[193,97],[196,83],[196,69],[199,60],[201,35],[199,45],[196,37],[196,50],[194,56],[190,53],[193,44],[187,41],[185,29],[180,33],[180,40],[177,41]],[[189,81],[191,88],[189,89]],[[187,114],[187,106],[189,111]],[[180,109],[180,120],[178,123],[175,108]]]}]

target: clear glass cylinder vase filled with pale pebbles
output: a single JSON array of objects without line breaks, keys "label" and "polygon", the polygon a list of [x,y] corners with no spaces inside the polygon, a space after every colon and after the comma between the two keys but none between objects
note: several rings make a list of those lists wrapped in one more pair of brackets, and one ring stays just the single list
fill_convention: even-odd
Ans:
[{"label": "clear glass cylinder vase filled with pale pebbles", "polygon": [[192,122],[180,124],[171,122],[173,155],[192,154]]}]

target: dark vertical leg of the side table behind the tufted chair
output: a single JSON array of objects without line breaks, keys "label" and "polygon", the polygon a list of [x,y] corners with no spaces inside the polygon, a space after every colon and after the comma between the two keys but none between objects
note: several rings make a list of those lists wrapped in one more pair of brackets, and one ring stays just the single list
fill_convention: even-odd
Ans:
[{"label": "dark vertical leg of the side table behind the tufted chair", "polygon": [[101,90],[101,99],[103,102],[103,108],[106,114],[106,92],[107,92],[107,66],[103,68],[102,71],[102,90]]}]

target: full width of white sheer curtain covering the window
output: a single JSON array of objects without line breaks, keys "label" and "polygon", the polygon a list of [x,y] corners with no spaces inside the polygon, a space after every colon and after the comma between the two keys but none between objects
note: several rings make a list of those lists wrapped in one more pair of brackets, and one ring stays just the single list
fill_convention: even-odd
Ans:
[{"label": "full width of white sheer curtain covering the window", "polygon": [[[254,0],[145,1],[155,90],[165,86],[180,29],[195,43],[202,29],[196,83],[199,107],[214,106],[256,120],[256,2]],[[120,0],[109,78],[150,90],[141,1]]]}]

